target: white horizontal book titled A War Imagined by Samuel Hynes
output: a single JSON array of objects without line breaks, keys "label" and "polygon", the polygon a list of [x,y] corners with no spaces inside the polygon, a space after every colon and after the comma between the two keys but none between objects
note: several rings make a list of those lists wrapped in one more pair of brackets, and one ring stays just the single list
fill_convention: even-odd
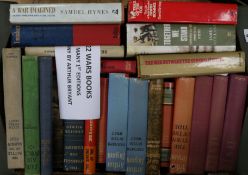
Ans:
[{"label": "white horizontal book titled A War Imagined by Samuel Hynes", "polygon": [[11,4],[12,24],[122,23],[122,3]]}]

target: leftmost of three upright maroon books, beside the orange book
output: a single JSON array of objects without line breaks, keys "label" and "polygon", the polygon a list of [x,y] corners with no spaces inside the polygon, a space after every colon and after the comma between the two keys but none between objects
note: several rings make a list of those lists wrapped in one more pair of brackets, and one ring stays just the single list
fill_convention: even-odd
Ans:
[{"label": "leftmost of three upright maroon books, beside the orange book", "polygon": [[187,173],[203,174],[205,170],[212,88],[213,77],[195,78]]}]

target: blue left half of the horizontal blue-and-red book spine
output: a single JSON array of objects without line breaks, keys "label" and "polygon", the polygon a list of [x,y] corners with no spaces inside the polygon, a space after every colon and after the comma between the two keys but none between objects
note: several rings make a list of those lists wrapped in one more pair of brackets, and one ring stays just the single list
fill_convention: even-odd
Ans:
[{"label": "blue left half of the horizontal blue-and-red book spine", "polygon": [[72,25],[13,25],[11,46],[73,45]]}]

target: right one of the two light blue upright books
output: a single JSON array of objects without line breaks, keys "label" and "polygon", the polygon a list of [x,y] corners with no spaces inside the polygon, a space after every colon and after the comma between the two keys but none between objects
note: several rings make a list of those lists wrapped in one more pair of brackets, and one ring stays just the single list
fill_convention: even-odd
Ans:
[{"label": "right one of the two light blue upright books", "polygon": [[144,175],[146,167],[146,136],[148,81],[129,80],[126,175]]}]

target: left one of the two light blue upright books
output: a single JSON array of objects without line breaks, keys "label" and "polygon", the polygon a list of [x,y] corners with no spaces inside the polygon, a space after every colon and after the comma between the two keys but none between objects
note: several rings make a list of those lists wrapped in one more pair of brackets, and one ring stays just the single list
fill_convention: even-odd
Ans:
[{"label": "left one of the two light blue upright books", "polygon": [[126,171],[128,84],[125,74],[109,75],[107,171]]}]

